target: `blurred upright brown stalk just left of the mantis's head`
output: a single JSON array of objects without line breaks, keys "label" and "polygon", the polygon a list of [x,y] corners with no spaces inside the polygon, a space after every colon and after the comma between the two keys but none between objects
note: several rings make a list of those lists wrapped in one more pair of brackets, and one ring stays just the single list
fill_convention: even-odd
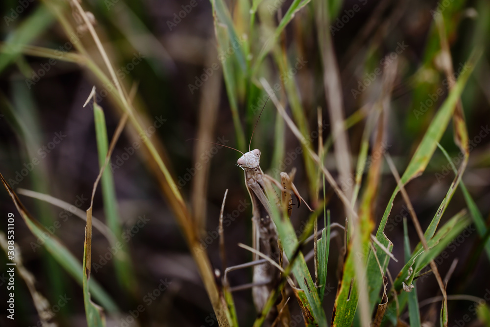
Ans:
[{"label": "blurred upright brown stalk just left of the mantis's head", "polygon": [[[211,67],[216,60],[215,47],[209,47],[206,63],[204,67]],[[218,107],[220,104],[221,94],[221,74],[213,74],[209,80],[204,83],[201,90],[199,102],[199,126],[196,138],[199,140],[211,142],[213,140],[216,120],[218,117]],[[201,155],[211,149],[211,144],[206,142],[197,142],[194,150],[194,160],[200,164],[200,169],[196,168],[196,175],[192,180],[192,214],[196,227],[201,235],[205,233],[206,227],[206,194],[209,180],[209,167],[211,160],[201,162]]]}]

